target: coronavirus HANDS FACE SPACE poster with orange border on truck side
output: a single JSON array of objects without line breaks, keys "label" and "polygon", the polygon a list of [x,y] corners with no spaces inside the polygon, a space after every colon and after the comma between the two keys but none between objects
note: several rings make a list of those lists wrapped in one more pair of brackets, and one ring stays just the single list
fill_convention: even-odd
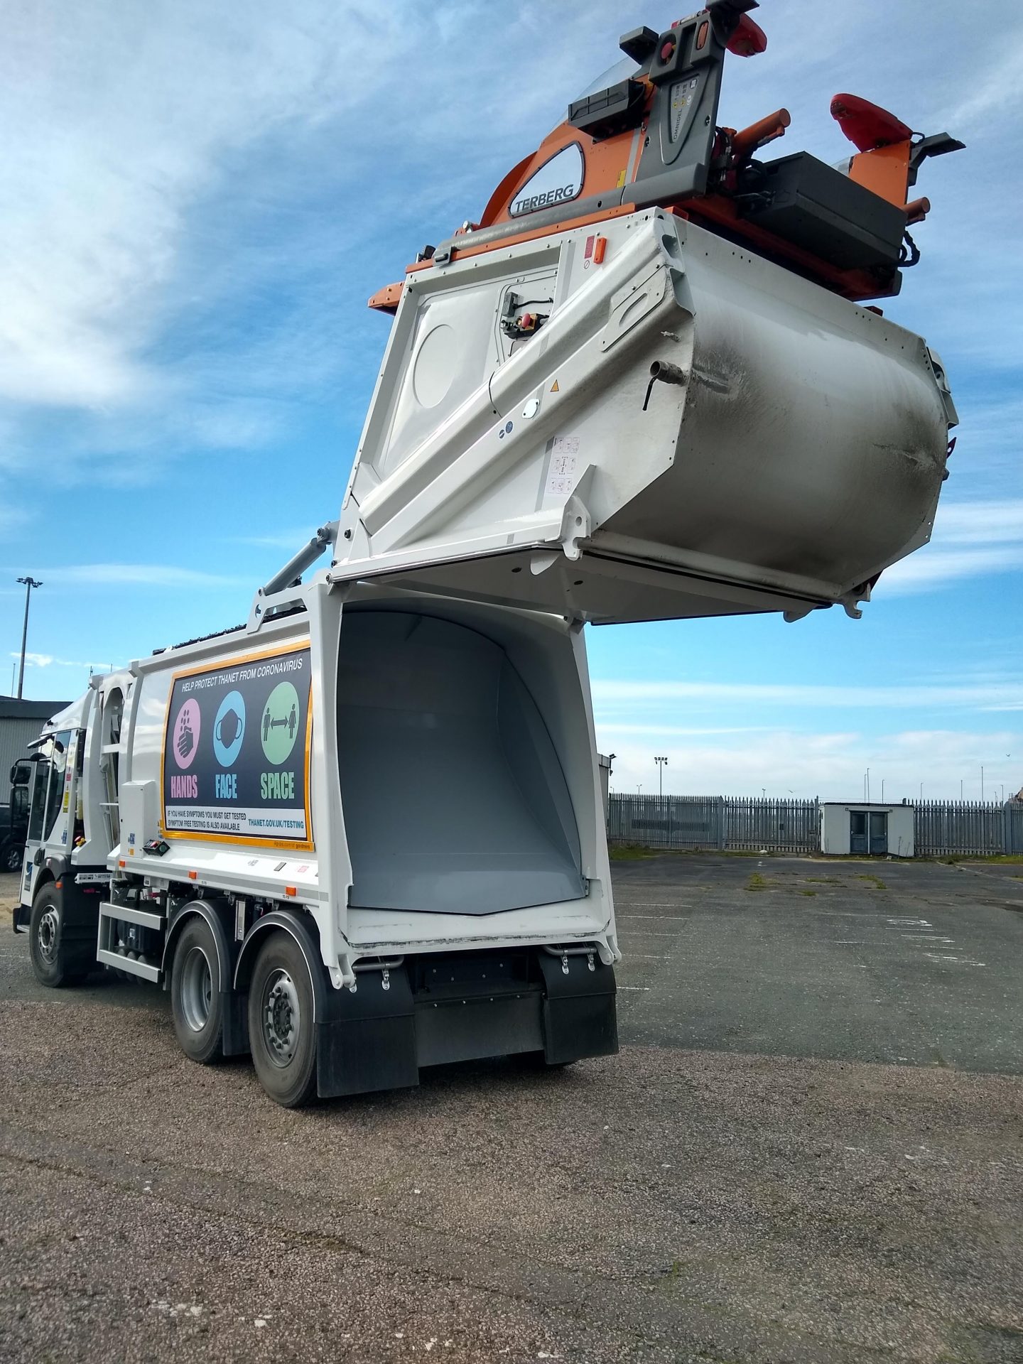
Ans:
[{"label": "coronavirus HANDS FACE SPACE poster with orange border on truck side", "polygon": [[310,844],[307,645],[176,672],[164,731],[164,832]]}]

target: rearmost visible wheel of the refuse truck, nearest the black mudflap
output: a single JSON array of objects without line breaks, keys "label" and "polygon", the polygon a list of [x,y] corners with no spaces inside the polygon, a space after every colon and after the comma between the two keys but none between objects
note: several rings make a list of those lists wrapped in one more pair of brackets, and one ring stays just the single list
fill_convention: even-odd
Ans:
[{"label": "rearmost visible wheel of the refuse truck, nearest the black mudflap", "polygon": [[306,956],[291,933],[270,933],[248,988],[248,1045],[259,1083],[282,1108],[316,1090],[316,1026]]}]

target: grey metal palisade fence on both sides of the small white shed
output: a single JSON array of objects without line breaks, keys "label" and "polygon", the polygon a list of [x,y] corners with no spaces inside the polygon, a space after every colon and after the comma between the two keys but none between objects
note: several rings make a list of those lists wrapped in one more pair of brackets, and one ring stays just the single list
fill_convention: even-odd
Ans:
[{"label": "grey metal palisade fence on both sides of the small white shed", "polygon": [[[919,857],[1023,853],[1020,801],[925,801],[914,809]],[[820,801],[614,792],[607,836],[611,843],[649,848],[816,853],[821,846]]]}]

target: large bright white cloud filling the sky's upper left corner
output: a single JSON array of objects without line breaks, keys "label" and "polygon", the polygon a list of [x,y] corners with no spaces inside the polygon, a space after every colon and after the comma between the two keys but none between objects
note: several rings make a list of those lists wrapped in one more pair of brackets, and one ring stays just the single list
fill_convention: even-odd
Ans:
[{"label": "large bright white cloud filling the sky's upper left corner", "polygon": [[[352,90],[356,16],[112,0],[8,11],[0,218],[0,393],[106,406],[153,400],[143,359],[190,205],[218,160]],[[327,31],[325,31],[325,29]]]}]

